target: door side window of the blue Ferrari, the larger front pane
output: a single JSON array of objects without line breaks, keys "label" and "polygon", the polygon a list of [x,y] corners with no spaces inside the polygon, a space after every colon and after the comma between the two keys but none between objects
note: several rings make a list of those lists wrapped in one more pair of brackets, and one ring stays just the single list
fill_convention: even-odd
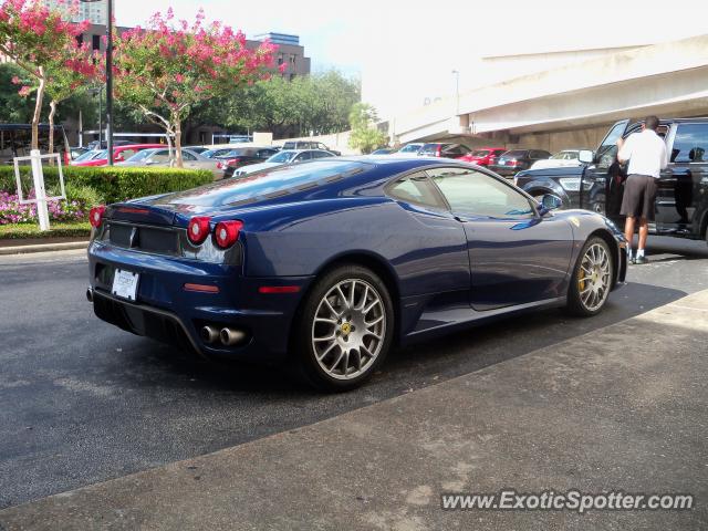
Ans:
[{"label": "door side window of the blue Ferrari, the larger front pane", "polygon": [[428,170],[452,212],[498,219],[532,218],[529,199],[511,186],[480,171],[464,168]]}]

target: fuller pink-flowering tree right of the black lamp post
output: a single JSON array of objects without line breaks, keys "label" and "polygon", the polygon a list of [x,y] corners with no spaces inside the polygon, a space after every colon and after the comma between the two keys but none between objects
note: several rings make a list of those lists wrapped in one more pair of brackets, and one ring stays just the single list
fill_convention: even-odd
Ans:
[{"label": "fuller pink-flowering tree right of the black lamp post", "polygon": [[[175,138],[175,163],[183,166],[181,124],[198,103],[229,94],[236,86],[268,79],[277,46],[266,41],[256,50],[246,35],[220,22],[177,21],[169,9],[146,28],[115,37],[116,96],[140,108]],[[284,65],[283,65],[284,70]],[[282,71],[282,70],[281,70]]]}]

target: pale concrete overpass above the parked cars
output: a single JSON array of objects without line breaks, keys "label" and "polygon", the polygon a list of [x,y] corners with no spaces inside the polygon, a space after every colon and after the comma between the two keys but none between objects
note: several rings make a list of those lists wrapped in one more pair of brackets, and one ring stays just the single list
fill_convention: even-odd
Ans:
[{"label": "pale concrete overpass above the parked cars", "polygon": [[388,123],[399,143],[456,139],[549,150],[594,147],[625,117],[708,115],[708,35],[602,56],[475,88]]}]

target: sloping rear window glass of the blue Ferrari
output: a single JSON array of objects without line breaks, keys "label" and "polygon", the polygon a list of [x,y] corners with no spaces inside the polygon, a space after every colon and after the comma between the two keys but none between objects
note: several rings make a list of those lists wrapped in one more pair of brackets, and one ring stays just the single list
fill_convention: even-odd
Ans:
[{"label": "sloping rear window glass of the blue Ferrari", "polygon": [[164,201],[205,207],[248,204],[324,186],[360,174],[368,166],[365,163],[332,159],[279,166],[173,194],[166,196]]}]

